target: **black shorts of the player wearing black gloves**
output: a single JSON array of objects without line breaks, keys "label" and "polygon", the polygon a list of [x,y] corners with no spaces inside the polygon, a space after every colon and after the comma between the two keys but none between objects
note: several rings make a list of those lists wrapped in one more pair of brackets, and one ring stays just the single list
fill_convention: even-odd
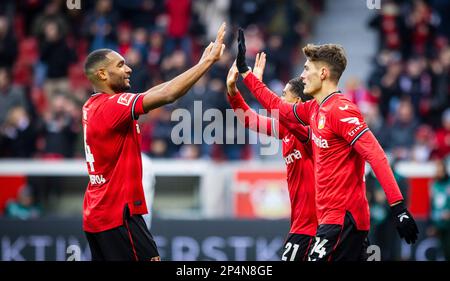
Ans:
[{"label": "black shorts of the player wearing black gloves", "polygon": [[367,261],[368,233],[357,230],[352,215],[347,212],[344,225],[319,225],[308,260]]}]

